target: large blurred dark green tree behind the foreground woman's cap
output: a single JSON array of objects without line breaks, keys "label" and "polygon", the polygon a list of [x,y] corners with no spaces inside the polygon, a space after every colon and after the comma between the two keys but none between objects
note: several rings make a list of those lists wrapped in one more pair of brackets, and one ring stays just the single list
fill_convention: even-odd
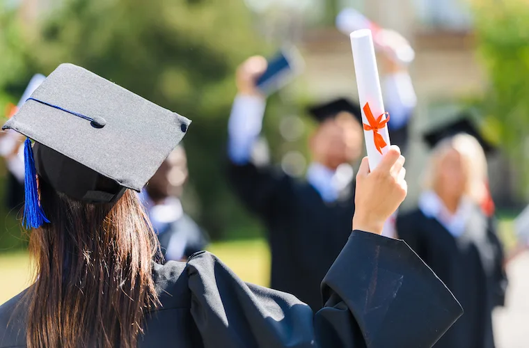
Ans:
[{"label": "large blurred dark green tree behind the foreground woman's cap", "polygon": [[219,237],[227,219],[244,216],[223,179],[235,67],[251,54],[269,52],[244,1],[56,3],[32,30],[16,30],[27,23],[13,19],[1,24],[0,90],[21,93],[33,72],[47,74],[70,62],[193,120],[184,140],[190,196],[198,197],[200,222]]}]

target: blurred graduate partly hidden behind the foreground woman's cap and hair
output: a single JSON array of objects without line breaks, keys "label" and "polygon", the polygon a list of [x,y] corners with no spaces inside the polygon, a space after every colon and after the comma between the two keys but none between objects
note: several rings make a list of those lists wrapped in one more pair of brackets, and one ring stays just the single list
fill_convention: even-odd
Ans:
[{"label": "blurred graduate partly hidden behind the foreground woman's cap and hair", "polygon": [[141,192],[166,261],[187,260],[209,242],[207,233],[182,208],[188,176],[186,152],[178,145]]}]

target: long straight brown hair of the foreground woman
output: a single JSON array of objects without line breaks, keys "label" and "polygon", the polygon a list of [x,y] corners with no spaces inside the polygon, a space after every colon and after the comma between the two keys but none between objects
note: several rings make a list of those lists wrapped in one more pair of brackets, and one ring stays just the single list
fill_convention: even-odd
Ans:
[{"label": "long straight brown hair of the foreground woman", "polygon": [[136,347],[145,312],[158,305],[152,259],[159,254],[136,193],[110,205],[72,200],[42,180],[39,191],[52,222],[29,242],[28,347]]}]

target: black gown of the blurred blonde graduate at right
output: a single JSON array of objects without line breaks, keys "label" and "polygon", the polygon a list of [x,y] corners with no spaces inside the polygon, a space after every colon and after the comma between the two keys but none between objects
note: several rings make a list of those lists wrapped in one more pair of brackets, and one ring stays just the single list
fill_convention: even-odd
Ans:
[{"label": "black gown of the blurred blonde graduate at right", "polygon": [[416,209],[397,217],[397,233],[445,282],[464,308],[436,348],[492,348],[492,310],[503,306],[507,277],[494,225],[478,207],[466,230],[453,237],[439,221]]}]

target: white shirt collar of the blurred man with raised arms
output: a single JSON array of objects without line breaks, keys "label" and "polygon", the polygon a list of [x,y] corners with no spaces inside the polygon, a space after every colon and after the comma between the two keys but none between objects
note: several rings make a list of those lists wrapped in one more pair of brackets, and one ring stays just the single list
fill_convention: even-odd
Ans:
[{"label": "white shirt collar of the blurred man with raised arms", "polygon": [[307,181],[311,184],[325,202],[338,200],[340,192],[349,185],[354,178],[353,167],[340,164],[335,171],[323,164],[313,162],[308,167]]}]

